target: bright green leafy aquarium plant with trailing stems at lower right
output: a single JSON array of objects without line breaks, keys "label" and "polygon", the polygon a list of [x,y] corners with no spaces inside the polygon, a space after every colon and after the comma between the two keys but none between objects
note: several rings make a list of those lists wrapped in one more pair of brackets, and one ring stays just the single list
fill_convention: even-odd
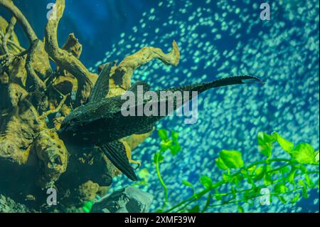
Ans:
[{"label": "bright green leafy aquarium plant with trailing stems at lower right", "polygon": [[[180,203],[167,208],[168,188],[160,172],[160,164],[164,162],[164,152],[176,155],[181,151],[178,144],[178,133],[166,130],[158,131],[161,139],[159,152],[154,154],[156,173],[164,188],[164,204],[157,212],[192,212],[208,211],[208,208],[234,204],[238,212],[245,212],[244,204],[253,205],[254,200],[260,198],[260,203],[272,202],[278,199],[284,204],[296,204],[299,199],[308,198],[309,191],[319,189],[319,150],[307,143],[294,145],[284,139],[279,133],[257,134],[257,148],[262,159],[256,162],[245,162],[238,150],[222,150],[215,164],[220,169],[220,181],[213,181],[210,176],[203,175],[199,181],[203,188],[196,189],[189,181],[181,184],[190,187],[193,195]],[[276,157],[274,146],[278,144],[282,149],[281,157]],[[316,176],[316,177],[315,177]],[[316,179],[316,181],[314,181]],[[222,188],[230,191],[223,191]],[[270,201],[263,201],[266,196]]]}]

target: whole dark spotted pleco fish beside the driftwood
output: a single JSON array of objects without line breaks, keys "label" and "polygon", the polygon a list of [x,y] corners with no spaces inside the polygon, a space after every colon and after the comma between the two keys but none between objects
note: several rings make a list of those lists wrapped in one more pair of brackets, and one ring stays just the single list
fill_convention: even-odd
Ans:
[{"label": "whole dark spotted pleco fish beside the driftwood", "polygon": [[[129,164],[125,147],[119,139],[127,137],[132,134],[143,134],[152,130],[157,121],[162,117],[169,115],[170,112],[166,112],[165,115],[157,112],[155,115],[123,115],[123,106],[127,100],[124,100],[122,96],[106,97],[109,91],[109,85],[106,83],[109,80],[110,68],[112,63],[106,64],[106,70],[101,73],[101,76],[95,87],[92,90],[92,95],[89,102],[86,105],[82,105],[68,115],[63,121],[59,135],[65,141],[79,144],[81,146],[95,146],[105,153],[108,159],[122,171],[129,179],[137,180],[137,176],[134,173],[134,169]],[[142,109],[146,105],[156,105],[158,111],[161,111],[160,107],[173,106],[173,110],[181,107],[184,103],[191,100],[193,97],[192,92],[203,93],[210,88],[218,88],[228,85],[238,85],[246,83],[261,83],[259,78],[252,77],[250,75],[232,76],[215,80],[209,83],[200,83],[196,85],[185,85],[178,88],[171,88],[164,91],[171,91],[172,93],[188,92],[189,97],[183,97],[183,100],[177,100],[174,96],[162,97],[161,92],[156,91],[158,96],[157,103],[153,100],[143,99],[142,102],[134,102],[130,108],[134,109],[134,112]],[[138,86],[142,86],[143,93],[149,91],[149,85],[144,82],[137,82],[129,89],[129,92],[134,93],[136,99]]]}]

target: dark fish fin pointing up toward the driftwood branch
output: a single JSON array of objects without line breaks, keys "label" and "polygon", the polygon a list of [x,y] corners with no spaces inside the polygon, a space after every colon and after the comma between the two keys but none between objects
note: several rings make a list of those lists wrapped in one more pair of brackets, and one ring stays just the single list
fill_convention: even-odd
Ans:
[{"label": "dark fish fin pointing up toward the driftwood branch", "polygon": [[95,102],[106,97],[109,93],[110,70],[114,62],[106,63],[97,78],[95,86],[92,88],[89,102]]}]

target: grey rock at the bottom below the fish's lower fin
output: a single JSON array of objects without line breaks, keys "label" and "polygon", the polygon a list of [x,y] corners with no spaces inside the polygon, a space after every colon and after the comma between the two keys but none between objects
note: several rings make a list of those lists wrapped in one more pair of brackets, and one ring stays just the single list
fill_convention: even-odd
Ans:
[{"label": "grey rock at the bottom below the fish's lower fin", "polygon": [[92,213],[146,213],[154,196],[133,186],[115,191],[92,206]]}]

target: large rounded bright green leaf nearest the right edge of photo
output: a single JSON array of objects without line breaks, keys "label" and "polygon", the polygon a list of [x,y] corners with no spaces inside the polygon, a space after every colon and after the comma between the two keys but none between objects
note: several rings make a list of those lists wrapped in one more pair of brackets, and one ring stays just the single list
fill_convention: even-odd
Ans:
[{"label": "large rounded bright green leaf nearest the right edge of photo", "polygon": [[292,159],[296,160],[300,164],[313,164],[315,152],[314,148],[310,144],[302,143],[289,153]]}]

